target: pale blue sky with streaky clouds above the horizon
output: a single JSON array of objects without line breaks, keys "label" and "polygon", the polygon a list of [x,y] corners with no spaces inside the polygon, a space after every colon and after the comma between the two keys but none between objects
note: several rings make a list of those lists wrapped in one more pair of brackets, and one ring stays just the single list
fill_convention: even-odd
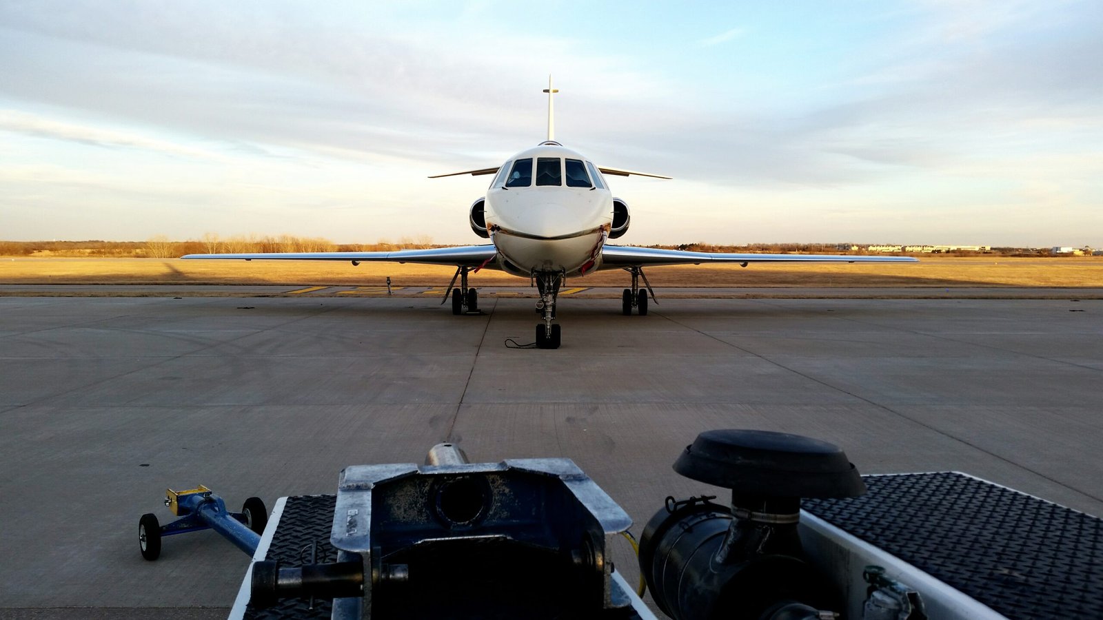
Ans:
[{"label": "pale blue sky with streaky clouds above the horizon", "polygon": [[0,0],[0,239],[485,243],[546,133],[618,243],[1103,247],[1103,2]]}]

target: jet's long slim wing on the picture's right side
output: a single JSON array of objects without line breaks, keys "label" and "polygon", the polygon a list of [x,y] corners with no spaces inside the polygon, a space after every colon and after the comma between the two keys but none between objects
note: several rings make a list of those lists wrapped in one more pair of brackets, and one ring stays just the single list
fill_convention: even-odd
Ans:
[{"label": "jet's long slim wing on the picture's right side", "polygon": [[647,267],[652,265],[700,265],[707,263],[918,263],[910,256],[835,256],[827,254],[727,254],[686,252],[606,244],[601,268]]}]

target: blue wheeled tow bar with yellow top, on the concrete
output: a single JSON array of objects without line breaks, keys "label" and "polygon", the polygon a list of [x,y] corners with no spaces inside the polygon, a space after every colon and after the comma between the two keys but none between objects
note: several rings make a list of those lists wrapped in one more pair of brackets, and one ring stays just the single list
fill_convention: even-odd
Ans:
[{"label": "blue wheeled tow bar with yellow top, on the concrete", "polygon": [[164,505],[180,519],[160,525],[157,515],[146,513],[138,521],[138,545],[141,555],[154,560],[161,555],[161,538],[200,530],[214,530],[251,557],[268,523],[268,511],[259,498],[245,500],[242,512],[229,512],[226,502],[202,484],[186,491],[165,492]]}]

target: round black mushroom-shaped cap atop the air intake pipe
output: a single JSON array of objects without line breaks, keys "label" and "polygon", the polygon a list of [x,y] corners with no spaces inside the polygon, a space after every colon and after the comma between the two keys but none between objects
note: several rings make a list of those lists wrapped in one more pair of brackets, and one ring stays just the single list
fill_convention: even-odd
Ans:
[{"label": "round black mushroom-shaped cap atop the air intake pipe", "polygon": [[838,446],[770,430],[707,430],[674,471],[733,493],[770,498],[856,498],[866,492]]}]

